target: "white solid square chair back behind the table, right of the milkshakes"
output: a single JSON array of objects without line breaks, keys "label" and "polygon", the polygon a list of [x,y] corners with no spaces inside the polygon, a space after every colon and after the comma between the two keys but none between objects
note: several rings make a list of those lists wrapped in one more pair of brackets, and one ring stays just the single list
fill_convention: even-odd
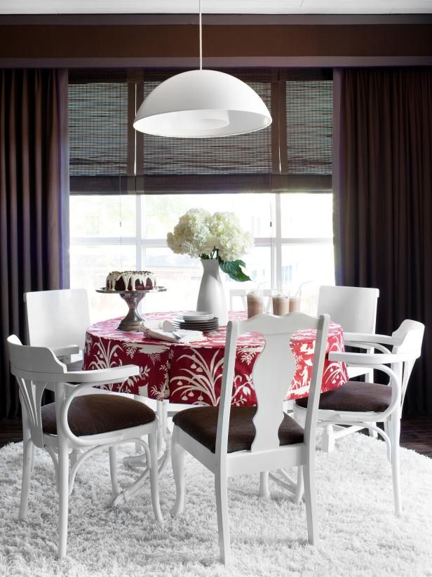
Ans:
[{"label": "white solid square chair back behind the table, right of the milkshakes", "polygon": [[378,297],[378,289],[320,286],[317,314],[330,314],[347,333],[374,333]]}]

